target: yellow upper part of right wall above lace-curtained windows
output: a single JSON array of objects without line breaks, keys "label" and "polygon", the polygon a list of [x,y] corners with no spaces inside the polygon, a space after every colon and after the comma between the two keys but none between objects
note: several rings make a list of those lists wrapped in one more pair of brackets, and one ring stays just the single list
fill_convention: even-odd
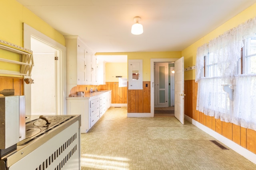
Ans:
[{"label": "yellow upper part of right wall above lace-curtained windows", "polygon": [[[184,67],[196,65],[196,51],[197,48],[205,43],[209,43],[211,39],[222,35],[224,32],[237,27],[239,24],[244,23],[250,18],[256,16],[256,4],[250,6],[231,20],[228,20],[226,23],[220,25],[218,28],[214,29],[212,32],[208,33],[186,49],[182,50],[181,55],[184,56]],[[184,74],[184,80],[194,80],[195,79],[195,70],[186,71]]]}]

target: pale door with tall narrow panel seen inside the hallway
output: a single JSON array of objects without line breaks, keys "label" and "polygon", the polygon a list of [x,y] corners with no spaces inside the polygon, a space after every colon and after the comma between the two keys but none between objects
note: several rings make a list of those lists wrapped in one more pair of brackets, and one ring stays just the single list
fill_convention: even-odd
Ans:
[{"label": "pale door with tall narrow panel seen inside the hallway", "polygon": [[168,107],[168,63],[155,64],[155,106]]}]

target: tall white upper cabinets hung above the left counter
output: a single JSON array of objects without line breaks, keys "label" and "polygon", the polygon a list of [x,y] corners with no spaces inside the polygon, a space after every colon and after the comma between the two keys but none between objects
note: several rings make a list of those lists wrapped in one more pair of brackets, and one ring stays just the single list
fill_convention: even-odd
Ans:
[{"label": "tall white upper cabinets hung above the left counter", "polygon": [[65,39],[67,84],[97,84],[94,53],[78,36],[65,36]]}]

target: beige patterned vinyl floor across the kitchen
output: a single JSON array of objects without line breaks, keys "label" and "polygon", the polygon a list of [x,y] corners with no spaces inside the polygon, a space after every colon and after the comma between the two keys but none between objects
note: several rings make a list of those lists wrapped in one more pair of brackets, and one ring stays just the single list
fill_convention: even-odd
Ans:
[{"label": "beige patterned vinyl floor across the kitchen", "polygon": [[127,117],[126,107],[110,107],[81,136],[82,170],[255,170],[233,150],[196,126],[175,117]]}]

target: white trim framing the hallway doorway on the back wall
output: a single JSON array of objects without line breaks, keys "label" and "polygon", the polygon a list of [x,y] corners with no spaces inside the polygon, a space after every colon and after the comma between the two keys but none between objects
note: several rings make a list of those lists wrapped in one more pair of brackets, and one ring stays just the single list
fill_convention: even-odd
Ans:
[{"label": "white trim framing the hallway doorway on the back wall", "polygon": [[154,63],[175,62],[178,58],[150,59],[150,117],[154,117]]}]

